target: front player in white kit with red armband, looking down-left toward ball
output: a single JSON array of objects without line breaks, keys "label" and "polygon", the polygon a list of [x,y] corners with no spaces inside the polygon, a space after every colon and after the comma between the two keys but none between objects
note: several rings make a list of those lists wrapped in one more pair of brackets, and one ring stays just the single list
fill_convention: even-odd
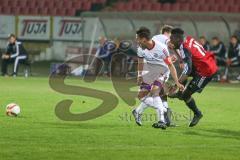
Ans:
[{"label": "front player in white kit with red armband, looking down-left toward ball", "polygon": [[[153,106],[158,115],[155,128],[166,129],[164,113],[167,111],[159,96],[164,83],[171,73],[174,82],[180,90],[184,86],[178,82],[177,72],[169,56],[167,46],[151,39],[151,32],[146,27],[141,27],[136,32],[138,48],[138,84],[140,91],[138,98],[141,104],[133,110],[133,115],[138,125],[141,123],[141,114],[148,106]],[[145,63],[144,63],[145,62]]]}]

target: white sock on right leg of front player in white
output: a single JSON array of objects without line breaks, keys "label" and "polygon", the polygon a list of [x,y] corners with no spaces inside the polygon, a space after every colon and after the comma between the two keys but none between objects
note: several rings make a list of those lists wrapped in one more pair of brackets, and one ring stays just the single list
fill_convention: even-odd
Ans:
[{"label": "white sock on right leg of front player in white", "polygon": [[158,121],[165,123],[164,113],[167,111],[167,109],[163,107],[162,100],[159,96],[153,97],[153,106],[156,109]]}]

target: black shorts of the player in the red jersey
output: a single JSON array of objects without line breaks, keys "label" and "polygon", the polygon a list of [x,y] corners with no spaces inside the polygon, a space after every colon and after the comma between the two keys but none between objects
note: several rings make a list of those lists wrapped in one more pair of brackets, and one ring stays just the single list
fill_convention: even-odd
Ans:
[{"label": "black shorts of the player in the red jersey", "polygon": [[192,75],[193,79],[190,81],[190,83],[187,86],[187,89],[190,90],[193,93],[199,92],[201,93],[204,87],[212,80],[214,75],[210,77],[204,77],[197,73]]}]

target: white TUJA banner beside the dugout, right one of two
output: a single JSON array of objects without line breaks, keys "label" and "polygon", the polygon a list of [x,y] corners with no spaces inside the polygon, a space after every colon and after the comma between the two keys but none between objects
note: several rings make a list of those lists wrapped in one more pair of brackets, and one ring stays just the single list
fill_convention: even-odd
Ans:
[{"label": "white TUJA banner beside the dugout, right one of two", "polygon": [[53,39],[75,41],[82,39],[85,22],[80,17],[54,17],[53,21]]}]

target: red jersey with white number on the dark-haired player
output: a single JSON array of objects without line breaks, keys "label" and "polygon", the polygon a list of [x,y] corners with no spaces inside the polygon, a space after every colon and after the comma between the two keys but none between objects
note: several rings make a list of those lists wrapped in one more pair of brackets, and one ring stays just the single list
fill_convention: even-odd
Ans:
[{"label": "red jersey with white number on the dark-haired player", "polygon": [[204,77],[210,77],[218,70],[214,54],[206,51],[195,39],[187,36],[183,48],[191,54],[192,65],[195,71]]}]

